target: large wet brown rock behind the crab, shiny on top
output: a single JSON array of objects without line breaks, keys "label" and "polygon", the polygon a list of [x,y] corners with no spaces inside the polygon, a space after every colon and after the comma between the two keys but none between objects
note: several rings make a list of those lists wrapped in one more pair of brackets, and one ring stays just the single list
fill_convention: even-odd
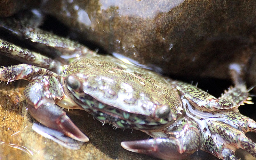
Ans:
[{"label": "large wet brown rock behind the crab, shiny on top", "polygon": [[[54,1],[44,11],[108,53],[164,74],[229,78],[242,64],[255,84],[255,1]],[[57,5],[58,4],[58,5]]]}]

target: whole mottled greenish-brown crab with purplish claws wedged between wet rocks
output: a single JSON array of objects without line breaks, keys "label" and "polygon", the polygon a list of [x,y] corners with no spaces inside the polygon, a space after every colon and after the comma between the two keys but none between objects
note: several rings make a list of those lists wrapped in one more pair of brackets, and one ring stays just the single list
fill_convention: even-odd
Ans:
[{"label": "whole mottled greenish-brown crab with purplish claws wedged between wet rocks", "polygon": [[240,105],[252,104],[250,89],[240,78],[242,66],[230,65],[234,87],[215,98],[194,85],[134,66],[126,59],[97,55],[79,43],[30,26],[39,24],[35,20],[41,16],[28,15],[3,19],[0,25],[59,55],[49,58],[0,40],[1,54],[25,62],[1,68],[0,80],[30,82],[24,90],[28,111],[41,124],[86,142],[88,137],[60,107],[83,109],[102,123],[153,137],[121,143],[132,152],[170,160],[201,149],[236,160],[235,151],[242,148],[256,157],[256,143],[245,136],[256,132],[256,122],[238,111]]}]

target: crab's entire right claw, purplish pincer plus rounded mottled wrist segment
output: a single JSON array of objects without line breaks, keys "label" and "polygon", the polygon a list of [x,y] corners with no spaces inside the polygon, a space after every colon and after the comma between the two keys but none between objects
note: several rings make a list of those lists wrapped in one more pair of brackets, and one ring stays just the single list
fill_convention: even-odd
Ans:
[{"label": "crab's entire right claw, purplish pincer plus rounded mottled wrist segment", "polygon": [[[149,132],[145,131],[151,136]],[[184,159],[202,145],[202,138],[196,124],[183,118],[164,130],[166,138],[126,141],[121,145],[132,152],[154,156],[164,160]],[[154,133],[153,133],[154,134]]]}]

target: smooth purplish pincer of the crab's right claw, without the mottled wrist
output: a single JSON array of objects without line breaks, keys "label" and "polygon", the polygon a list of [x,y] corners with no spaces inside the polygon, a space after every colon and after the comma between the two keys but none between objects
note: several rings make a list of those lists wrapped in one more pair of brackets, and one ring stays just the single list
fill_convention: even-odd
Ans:
[{"label": "smooth purplish pincer of the crab's right claw, without the mottled wrist", "polygon": [[122,142],[124,149],[132,152],[142,153],[149,156],[165,160],[184,159],[196,151],[196,148],[187,148],[179,139],[170,138],[154,138],[139,141]]}]

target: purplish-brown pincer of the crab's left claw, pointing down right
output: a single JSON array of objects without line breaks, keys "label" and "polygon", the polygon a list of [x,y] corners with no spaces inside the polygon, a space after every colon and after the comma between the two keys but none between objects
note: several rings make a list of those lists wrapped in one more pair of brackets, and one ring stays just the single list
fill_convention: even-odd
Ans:
[{"label": "purplish-brown pincer of the crab's left claw, pointing down right", "polygon": [[38,122],[49,128],[60,131],[74,140],[89,141],[89,138],[79,130],[66,113],[54,104],[45,103],[38,108],[28,104],[28,111]]}]

